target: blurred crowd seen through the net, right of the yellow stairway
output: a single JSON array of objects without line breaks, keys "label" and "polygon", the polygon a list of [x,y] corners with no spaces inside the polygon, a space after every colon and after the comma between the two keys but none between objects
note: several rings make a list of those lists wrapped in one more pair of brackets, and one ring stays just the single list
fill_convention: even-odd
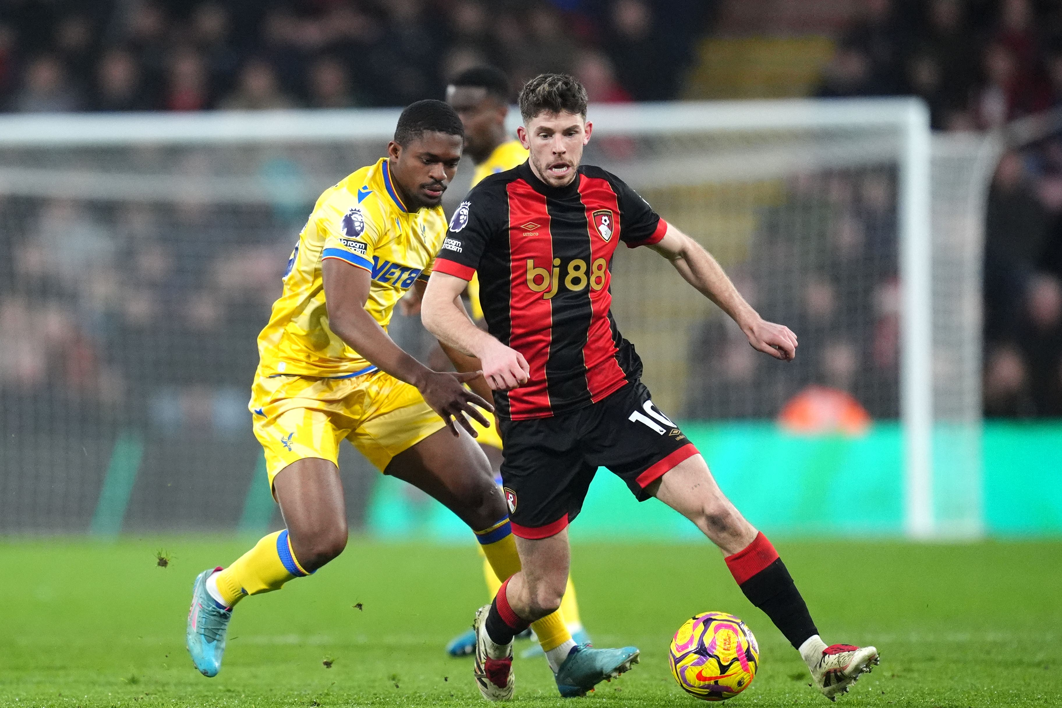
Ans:
[{"label": "blurred crowd seen through the net, right of the yellow stairway", "polygon": [[828,430],[850,404],[874,418],[898,415],[895,184],[887,168],[786,182],[729,273],[765,317],[796,332],[800,353],[778,365],[729,318],[709,318],[690,342],[686,416],[773,418],[819,388],[845,394],[810,402]]}]

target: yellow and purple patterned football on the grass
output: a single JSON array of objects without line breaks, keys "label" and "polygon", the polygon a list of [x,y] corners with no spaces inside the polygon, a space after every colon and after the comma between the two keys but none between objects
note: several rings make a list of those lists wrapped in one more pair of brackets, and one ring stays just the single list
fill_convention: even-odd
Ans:
[{"label": "yellow and purple patterned football on the grass", "polygon": [[756,676],[759,646],[733,615],[701,612],[674,633],[668,662],[683,691],[702,701],[725,701]]}]

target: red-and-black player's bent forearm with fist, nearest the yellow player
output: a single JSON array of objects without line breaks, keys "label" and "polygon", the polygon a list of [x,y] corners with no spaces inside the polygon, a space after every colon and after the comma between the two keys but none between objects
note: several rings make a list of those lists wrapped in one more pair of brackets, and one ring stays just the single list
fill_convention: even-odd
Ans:
[{"label": "red-and-black player's bent forearm with fist, nearest the yellow player", "polygon": [[424,327],[440,342],[469,357],[477,357],[483,378],[494,391],[509,391],[526,383],[531,372],[524,356],[477,327],[461,305],[467,281],[435,271],[421,303]]}]

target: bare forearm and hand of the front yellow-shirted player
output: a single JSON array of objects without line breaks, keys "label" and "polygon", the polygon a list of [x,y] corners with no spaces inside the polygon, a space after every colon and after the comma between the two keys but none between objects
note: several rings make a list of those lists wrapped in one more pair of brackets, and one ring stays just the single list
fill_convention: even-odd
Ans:
[{"label": "bare forearm and hand of the front yellow-shirted player", "polygon": [[478,377],[479,372],[457,374],[431,370],[395,344],[365,311],[372,284],[369,271],[338,258],[324,259],[321,270],[328,327],[375,366],[416,386],[424,400],[443,417],[455,435],[458,434],[456,421],[476,437],[476,430],[465,414],[486,427],[486,418],[473,403],[492,412],[494,407],[461,384]]}]

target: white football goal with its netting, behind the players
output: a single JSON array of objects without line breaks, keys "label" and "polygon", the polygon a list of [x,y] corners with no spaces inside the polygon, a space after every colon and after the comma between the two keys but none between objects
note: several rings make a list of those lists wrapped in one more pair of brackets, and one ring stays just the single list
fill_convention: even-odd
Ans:
[{"label": "white football goal with its netting, behind the players", "polygon": [[[315,197],[381,156],[396,117],[0,119],[0,530],[268,523],[246,408],[255,338]],[[599,106],[590,119],[584,161],[631,184],[800,338],[794,362],[758,355],[664,259],[622,249],[614,313],[655,402],[725,441],[741,426],[884,435],[901,528],[978,533],[991,143],[930,141],[921,104],[900,100]],[[429,356],[415,318],[391,331]],[[358,525],[375,473],[344,454]]]}]

